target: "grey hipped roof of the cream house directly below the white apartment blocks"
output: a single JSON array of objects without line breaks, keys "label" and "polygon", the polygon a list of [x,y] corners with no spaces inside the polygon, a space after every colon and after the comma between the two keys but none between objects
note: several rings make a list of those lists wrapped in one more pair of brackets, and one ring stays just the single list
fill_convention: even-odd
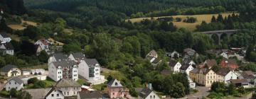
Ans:
[{"label": "grey hipped roof of the cream house directly below the white apartment blocks", "polygon": [[81,85],[72,79],[61,79],[55,84],[56,87],[80,87]]}]

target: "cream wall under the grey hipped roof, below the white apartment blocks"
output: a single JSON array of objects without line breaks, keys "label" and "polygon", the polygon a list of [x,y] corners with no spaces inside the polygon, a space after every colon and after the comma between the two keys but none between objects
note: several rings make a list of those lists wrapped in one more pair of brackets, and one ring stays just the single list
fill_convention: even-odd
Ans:
[{"label": "cream wall under the grey hipped roof, below the white apartment blocks", "polygon": [[58,88],[58,90],[61,91],[64,96],[73,96],[78,95],[78,92],[81,91],[81,87],[62,87]]}]

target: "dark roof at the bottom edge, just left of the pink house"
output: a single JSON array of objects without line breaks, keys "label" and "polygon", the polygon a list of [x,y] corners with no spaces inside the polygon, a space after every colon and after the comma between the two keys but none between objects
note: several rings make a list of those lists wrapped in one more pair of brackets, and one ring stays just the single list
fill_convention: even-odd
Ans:
[{"label": "dark roof at the bottom edge, just left of the pink house", "polygon": [[79,95],[81,99],[102,98],[100,91],[81,91]]}]

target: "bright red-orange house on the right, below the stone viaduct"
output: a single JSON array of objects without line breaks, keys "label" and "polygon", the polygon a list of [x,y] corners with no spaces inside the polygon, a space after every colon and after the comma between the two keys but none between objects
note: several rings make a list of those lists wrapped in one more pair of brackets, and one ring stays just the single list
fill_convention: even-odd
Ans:
[{"label": "bright red-orange house on the right, below the stone viaduct", "polygon": [[223,68],[238,69],[238,63],[235,59],[223,59],[220,64]]}]

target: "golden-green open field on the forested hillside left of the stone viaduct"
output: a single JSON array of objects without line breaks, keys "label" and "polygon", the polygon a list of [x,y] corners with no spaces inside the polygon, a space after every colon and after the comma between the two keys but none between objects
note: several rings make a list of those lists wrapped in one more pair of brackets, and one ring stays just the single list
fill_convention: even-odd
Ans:
[{"label": "golden-green open field on the forested hillside left of the stone viaduct", "polygon": [[[231,14],[232,13],[222,13],[224,18],[225,18],[225,16],[228,17],[228,15],[231,15]],[[236,14],[238,14],[238,13],[236,13]],[[186,16],[186,15],[161,16],[161,17],[153,17],[153,20],[156,20],[157,18],[166,18],[166,17],[173,17],[174,19],[175,18],[182,18],[182,20],[183,20],[186,17],[194,17],[194,18],[197,18],[196,23],[183,23],[182,21],[181,22],[173,22],[174,25],[176,25],[178,28],[186,28],[188,30],[193,31],[193,30],[196,29],[196,25],[200,25],[202,23],[202,21],[206,21],[206,23],[210,23],[210,20],[213,16],[215,16],[215,18],[217,18],[218,14],[203,14],[203,15],[191,15],[191,16]],[[145,19],[151,20],[150,17],[147,17],[147,18],[132,18],[132,19],[128,19],[128,20],[131,21],[132,23],[135,23],[135,22],[143,21]]]}]

